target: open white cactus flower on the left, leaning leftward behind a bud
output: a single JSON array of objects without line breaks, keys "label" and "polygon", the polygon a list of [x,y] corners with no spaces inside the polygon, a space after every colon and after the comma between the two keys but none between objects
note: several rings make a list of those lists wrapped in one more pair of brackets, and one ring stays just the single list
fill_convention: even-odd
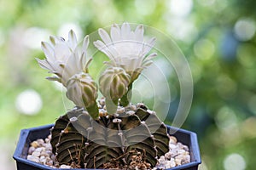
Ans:
[{"label": "open white cactus flower on the left, leaning leftward behind a bud", "polygon": [[82,48],[79,48],[75,33],[71,30],[68,33],[68,40],[62,37],[49,37],[50,43],[42,42],[42,49],[46,59],[37,59],[38,64],[54,73],[55,77],[48,77],[49,80],[61,82],[67,87],[67,81],[73,75],[84,71],[87,72],[86,63],[89,37],[84,37]]}]

